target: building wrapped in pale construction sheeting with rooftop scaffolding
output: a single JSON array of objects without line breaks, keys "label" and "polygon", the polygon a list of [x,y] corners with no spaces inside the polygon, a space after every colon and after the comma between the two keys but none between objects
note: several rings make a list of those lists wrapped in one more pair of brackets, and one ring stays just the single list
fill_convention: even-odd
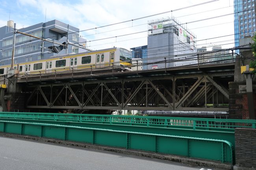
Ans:
[{"label": "building wrapped in pale construction sheeting with rooftop scaffolding", "polygon": [[[170,68],[195,64],[195,35],[174,18],[161,18],[148,22],[148,57],[152,68]],[[170,57],[171,56],[171,57]],[[157,58],[156,58],[157,57]]]}]

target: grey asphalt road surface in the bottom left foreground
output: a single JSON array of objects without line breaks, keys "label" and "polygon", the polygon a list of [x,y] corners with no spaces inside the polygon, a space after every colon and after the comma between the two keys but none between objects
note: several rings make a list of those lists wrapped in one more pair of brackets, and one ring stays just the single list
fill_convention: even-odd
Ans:
[{"label": "grey asphalt road surface in the bottom left foreground", "polygon": [[205,167],[0,137],[0,170],[200,170],[201,168]]}]

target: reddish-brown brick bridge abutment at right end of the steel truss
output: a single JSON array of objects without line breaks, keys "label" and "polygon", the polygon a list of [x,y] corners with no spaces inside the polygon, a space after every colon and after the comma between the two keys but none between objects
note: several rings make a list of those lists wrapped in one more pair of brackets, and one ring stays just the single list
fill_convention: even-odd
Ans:
[{"label": "reddish-brown brick bridge abutment at right end of the steel truss", "polygon": [[[255,83],[253,83],[255,84]],[[247,94],[239,94],[239,85],[246,85],[243,82],[229,82],[229,118],[249,119]],[[256,93],[254,89],[254,113],[256,115]]]}]

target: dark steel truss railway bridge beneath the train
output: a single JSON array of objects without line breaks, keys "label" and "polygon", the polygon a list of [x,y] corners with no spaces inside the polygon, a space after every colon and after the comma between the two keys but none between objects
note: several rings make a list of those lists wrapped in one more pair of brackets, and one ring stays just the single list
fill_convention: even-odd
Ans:
[{"label": "dark steel truss railway bridge beneath the train", "polygon": [[18,77],[26,108],[228,112],[234,63]]}]

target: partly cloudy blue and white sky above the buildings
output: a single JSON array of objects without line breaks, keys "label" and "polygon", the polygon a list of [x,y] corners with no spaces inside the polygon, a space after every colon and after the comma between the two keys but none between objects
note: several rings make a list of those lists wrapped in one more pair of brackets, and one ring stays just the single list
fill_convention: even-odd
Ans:
[{"label": "partly cloudy blue and white sky above the buildings", "polygon": [[[193,6],[204,2],[209,3]],[[148,21],[175,17],[196,36],[197,48],[233,48],[233,5],[233,0],[0,0],[0,27],[9,19],[18,29],[56,19],[79,28],[87,48],[130,49],[147,45]],[[129,22],[115,24],[123,21]],[[94,29],[109,24],[115,25]]]}]

